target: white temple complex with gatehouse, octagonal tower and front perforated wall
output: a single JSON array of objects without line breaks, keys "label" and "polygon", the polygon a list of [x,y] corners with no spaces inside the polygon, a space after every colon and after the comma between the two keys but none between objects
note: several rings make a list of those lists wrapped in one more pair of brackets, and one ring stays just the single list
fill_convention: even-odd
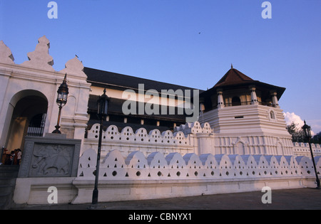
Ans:
[{"label": "white temple complex with gatehouse, octagonal tower and front perforated wall", "polygon": [[[57,90],[66,75],[60,130],[67,139],[81,140],[78,172],[46,181],[18,178],[15,203],[46,203],[37,192],[53,183],[66,193],[61,203],[90,201],[96,102],[104,89],[110,101],[103,121],[101,201],[255,191],[267,184],[291,188],[311,178],[310,165],[303,165],[310,164],[309,146],[293,143],[286,129],[279,104],[285,87],[253,80],[233,66],[208,90],[85,68],[77,57],[56,71],[49,47],[46,36],[39,38],[29,60],[16,64],[0,41],[0,145],[7,154],[19,148],[24,155],[26,137],[54,131]],[[312,149],[321,156],[319,144]]]}]

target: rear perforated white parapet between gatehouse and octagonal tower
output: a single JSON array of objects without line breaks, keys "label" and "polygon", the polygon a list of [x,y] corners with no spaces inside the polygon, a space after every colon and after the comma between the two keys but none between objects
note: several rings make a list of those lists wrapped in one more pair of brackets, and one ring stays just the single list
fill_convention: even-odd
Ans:
[{"label": "rear perforated white parapet between gatehouse and octagonal tower", "polygon": [[[97,149],[98,146],[99,124],[93,124],[88,130],[87,138],[84,139],[83,149]],[[153,129],[147,132],[146,129],[140,128],[136,132],[131,127],[124,127],[121,132],[118,127],[111,125],[107,127],[102,134],[101,155],[104,157],[112,149],[117,148],[124,157],[133,151],[142,151],[145,156],[154,151],[162,151],[163,154],[178,152],[188,154],[198,151],[198,142],[193,134],[207,134],[210,138],[210,129],[208,123],[200,125],[199,122],[187,123],[177,127],[175,132],[170,130],[160,132]]]}]

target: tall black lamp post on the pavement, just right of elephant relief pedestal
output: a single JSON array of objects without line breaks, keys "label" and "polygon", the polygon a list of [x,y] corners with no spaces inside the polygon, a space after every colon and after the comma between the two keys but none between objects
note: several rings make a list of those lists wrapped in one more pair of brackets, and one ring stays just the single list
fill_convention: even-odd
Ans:
[{"label": "tall black lamp post on the pavement, just right of elephant relief pedestal", "polygon": [[103,90],[103,95],[99,96],[98,98],[97,112],[98,112],[99,119],[101,119],[101,125],[99,129],[96,171],[93,171],[93,174],[95,175],[95,186],[93,188],[93,198],[89,209],[97,208],[97,204],[98,204],[98,177],[99,177],[99,164],[101,162],[101,138],[103,134],[103,120],[106,119],[108,114],[108,101],[109,101],[109,97],[106,95],[106,88],[105,88]]}]

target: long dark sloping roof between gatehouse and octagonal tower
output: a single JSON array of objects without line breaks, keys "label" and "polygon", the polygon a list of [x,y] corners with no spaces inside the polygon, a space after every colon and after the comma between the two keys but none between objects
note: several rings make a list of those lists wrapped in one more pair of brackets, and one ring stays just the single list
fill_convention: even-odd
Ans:
[{"label": "long dark sloping roof between gatehouse and octagonal tower", "polygon": [[[193,90],[192,87],[185,87],[181,85],[174,85],[166,82],[158,82],[155,80],[148,80],[144,78],[137,78],[131,75],[122,75],[118,73],[111,73],[108,71],[97,70],[93,68],[85,67],[83,72],[87,75],[87,81],[91,82],[92,85],[102,87],[112,87],[118,90],[138,90],[138,84],[144,84],[145,90]],[[203,90],[200,90],[203,92]]]}]

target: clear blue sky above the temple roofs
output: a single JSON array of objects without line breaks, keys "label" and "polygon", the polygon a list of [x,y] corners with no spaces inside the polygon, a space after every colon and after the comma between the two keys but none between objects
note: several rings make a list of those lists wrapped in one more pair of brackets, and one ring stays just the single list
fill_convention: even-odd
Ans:
[{"label": "clear blue sky above the temple roofs", "polygon": [[[54,69],[78,55],[86,67],[202,90],[230,64],[254,80],[286,87],[284,112],[321,132],[321,1],[0,0],[0,40],[15,63],[46,35]],[[296,116],[292,116],[297,119]]]}]

